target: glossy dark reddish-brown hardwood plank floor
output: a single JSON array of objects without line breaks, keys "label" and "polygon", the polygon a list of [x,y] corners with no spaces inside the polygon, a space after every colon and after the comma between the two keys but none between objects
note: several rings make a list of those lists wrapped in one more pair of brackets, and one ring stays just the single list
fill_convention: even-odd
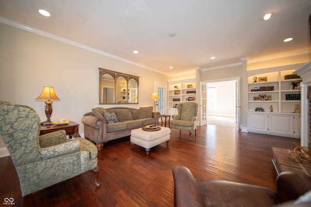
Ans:
[{"label": "glossy dark reddish-brown hardwood plank floor", "polygon": [[109,142],[98,153],[100,188],[89,171],[44,190],[21,197],[12,159],[0,158],[0,200],[14,198],[21,207],[172,207],[175,165],[185,165],[196,179],[243,182],[276,189],[272,146],[294,148],[298,139],[237,132],[231,127],[198,127],[192,141],[188,132],[172,129],[168,146],[161,143],[147,156],[129,138]]}]

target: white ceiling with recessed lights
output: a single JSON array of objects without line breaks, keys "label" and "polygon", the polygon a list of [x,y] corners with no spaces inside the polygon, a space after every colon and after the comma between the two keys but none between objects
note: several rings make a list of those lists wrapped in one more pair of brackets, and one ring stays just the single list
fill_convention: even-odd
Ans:
[{"label": "white ceiling with recessed lights", "polygon": [[170,76],[307,53],[310,14],[311,0],[0,0],[0,17]]}]

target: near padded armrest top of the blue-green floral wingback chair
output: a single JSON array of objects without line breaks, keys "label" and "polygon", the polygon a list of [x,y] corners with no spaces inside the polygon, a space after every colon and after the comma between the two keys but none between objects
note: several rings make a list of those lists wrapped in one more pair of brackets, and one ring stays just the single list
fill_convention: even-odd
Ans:
[{"label": "near padded armrest top of the blue-green floral wingback chair", "polygon": [[50,159],[57,156],[78,152],[79,150],[80,150],[80,141],[72,140],[66,143],[41,148],[40,157],[42,159]]}]

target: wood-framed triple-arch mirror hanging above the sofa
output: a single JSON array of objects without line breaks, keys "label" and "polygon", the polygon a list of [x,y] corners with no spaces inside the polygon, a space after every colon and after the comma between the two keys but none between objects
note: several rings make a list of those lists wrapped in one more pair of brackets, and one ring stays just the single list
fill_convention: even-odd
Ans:
[{"label": "wood-framed triple-arch mirror hanging above the sofa", "polygon": [[138,104],[138,76],[98,69],[99,104]]}]

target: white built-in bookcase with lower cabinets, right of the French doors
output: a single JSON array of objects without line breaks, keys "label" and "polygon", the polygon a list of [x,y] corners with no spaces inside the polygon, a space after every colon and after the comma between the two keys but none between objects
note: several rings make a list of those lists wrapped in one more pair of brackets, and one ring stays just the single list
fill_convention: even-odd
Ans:
[{"label": "white built-in bookcase with lower cabinets, right of the French doors", "polygon": [[[254,76],[248,77],[248,131],[299,138],[302,79],[285,79],[293,72],[283,70],[258,74],[256,82]],[[263,108],[264,112],[255,111],[256,108]]]}]

